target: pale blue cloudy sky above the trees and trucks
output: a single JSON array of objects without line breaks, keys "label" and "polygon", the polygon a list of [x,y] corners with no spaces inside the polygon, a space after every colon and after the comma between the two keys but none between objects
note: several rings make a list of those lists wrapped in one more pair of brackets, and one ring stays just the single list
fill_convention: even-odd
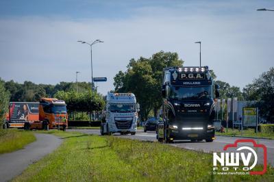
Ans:
[{"label": "pale blue cloudy sky above the trees and trucks", "polygon": [[245,87],[274,66],[274,1],[0,1],[0,77],[19,83],[90,81],[92,47],[99,92],[130,59],[177,52],[184,66],[202,65],[217,79]]}]

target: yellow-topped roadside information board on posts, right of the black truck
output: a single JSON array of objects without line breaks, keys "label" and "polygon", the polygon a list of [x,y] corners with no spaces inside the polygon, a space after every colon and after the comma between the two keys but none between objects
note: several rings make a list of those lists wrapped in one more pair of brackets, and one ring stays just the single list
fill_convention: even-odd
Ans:
[{"label": "yellow-topped roadside information board on posts, right of the black truck", "polygon": [[244,125],[245,127],[257,126],[257,108],[243,107],[242,116],[242,125]]}]

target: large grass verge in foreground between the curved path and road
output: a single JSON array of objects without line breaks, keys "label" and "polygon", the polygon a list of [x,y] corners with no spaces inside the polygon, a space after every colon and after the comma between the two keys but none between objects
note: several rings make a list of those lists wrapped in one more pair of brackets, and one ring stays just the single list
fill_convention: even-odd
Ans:
[{"label": "large grass verge in foreground between the curved path and road", "polygon": [[157,142],[49,131],[62,145],[14,181],[273,181],[262,176],[212,174],[212,155]]}]

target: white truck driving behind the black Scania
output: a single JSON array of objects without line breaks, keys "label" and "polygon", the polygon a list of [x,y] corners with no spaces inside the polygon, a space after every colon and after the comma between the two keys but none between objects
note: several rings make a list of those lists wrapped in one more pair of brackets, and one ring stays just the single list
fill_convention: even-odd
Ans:
[{"label": "white truck driving behind the black Scania", "polygon": [[138,111],[139,106],[134,94],[108,92],[105,117],[101,123],[101,135],[112,133],[135,135]]}]

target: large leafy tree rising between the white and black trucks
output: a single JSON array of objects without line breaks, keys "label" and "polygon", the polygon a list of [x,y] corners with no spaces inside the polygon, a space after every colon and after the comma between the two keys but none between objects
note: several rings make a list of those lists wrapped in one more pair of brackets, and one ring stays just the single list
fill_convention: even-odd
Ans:
[{"label": "large leafy tree rising between the white and black trucks", "polygon": [[147,120],[153,109],[156,116],[162,105],[162,70],[169,66],[182,66],[177,53],[160,51],[152,57],[129,60],[127,71],[119,71],[114,77],[116,92],[132,92],[140,103],[142,120]]}]

